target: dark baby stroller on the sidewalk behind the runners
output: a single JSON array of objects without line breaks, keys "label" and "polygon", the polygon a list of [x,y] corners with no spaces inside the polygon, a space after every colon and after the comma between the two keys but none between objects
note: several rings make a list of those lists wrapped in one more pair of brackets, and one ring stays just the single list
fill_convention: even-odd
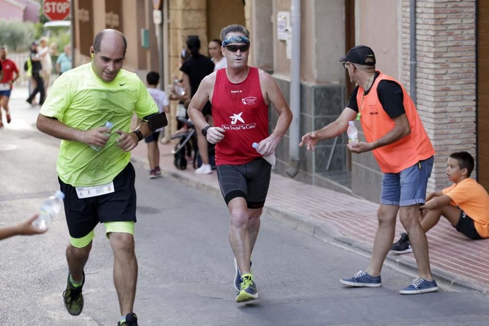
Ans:
[{"label": "dark baby stroller on the sidewalk behind the runners", "polygon": [[[183,125],[183,127],[177,133],[171,136],[171,139],[179,139],[178,143],[172,150],[174,156],[173,164],[178,170],[185,170],[187,168],[187,156],[192,157],[192,166],[197,169],[202,164],[199,155],[199,148],[197,146],[197,134],[195,126],[190,121],[184,117],[177,117],[178,122]],[[212,169],[215,169],[215,151],[213,144],[209,144],[209,163]]]}]

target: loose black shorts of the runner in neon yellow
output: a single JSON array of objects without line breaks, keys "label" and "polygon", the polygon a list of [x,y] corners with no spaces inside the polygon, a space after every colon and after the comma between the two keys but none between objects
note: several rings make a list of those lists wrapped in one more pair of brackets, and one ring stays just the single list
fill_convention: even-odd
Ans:
[{"label": "loose black shorts of the runner in neon yellow", "polygon": [[80,199],[76,188],[58,177],[60,189],[65,194],[65,214],[69,235],[82,238],[98,223],[136,221],[136,190],[134,167],[129,164],[113,180],[111,194]]}]

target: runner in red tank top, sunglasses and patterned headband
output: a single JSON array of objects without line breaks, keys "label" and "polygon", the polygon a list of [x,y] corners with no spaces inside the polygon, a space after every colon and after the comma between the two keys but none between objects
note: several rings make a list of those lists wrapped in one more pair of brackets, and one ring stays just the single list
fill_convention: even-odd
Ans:
[{"label": "runner in red tank top, sunglasses and patterned headband", "polygon": [[[222,196],[231,214],[229,242],[236,258],[236,302],[259,297],[251,275],[251,252],[260,229],[271,165],[262,156],[275,152],[289,129],[292,112],[275,81],[265,71],[248,66],[249,32],[242,25],[221,30],[222,55],[227,68],[206,76],[192,97],[188,115],[197,130],[216,144],[216,165]],[[202,108],[212,104],[214,125],[207,124]],[[268,135],[268,105],[278,113]],[[258,143],[255,150],[252,144]]]}]

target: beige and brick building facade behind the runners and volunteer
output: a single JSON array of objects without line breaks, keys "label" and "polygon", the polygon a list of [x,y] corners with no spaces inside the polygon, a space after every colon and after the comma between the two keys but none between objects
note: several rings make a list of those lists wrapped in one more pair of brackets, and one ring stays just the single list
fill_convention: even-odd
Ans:
[{"label": "beige and brick building facade behind the runners and volunteer", "polygon": [[[142,76],[158,71],[159,52],[150,0],[75,0],[75,60],[89,60],[93,35],[106,27],[126,34],[129,47],[125,67]],[[200,37],[207,55],[209,40],[222,27],[244,24],[250,30],[250,65],[269,72],[290,101],[290,82],[300,79],[300,135],[334,121],[354,88],[339,58],[358,44],[373,48],[377,69],[396,78],[411,91],[435,150],[436,160],[428,189],[447,185],[446,157],[468,151],[476,158],[477,177],[489,188],[489,12],[488,1],[423,0],[411,12],[411,0],[301,0],[300,72],[291,76],[292,0],[161,0],[165,84],[179,77],[180,55],[189,35]],[[415,15],[415,17],[411,16]],[[415,18],[416,31],[411,17]],[[143,47],[143,30],[149,44]],[[91,36],[90,36],[91,35]],[[90,37],[91,40],[90,40]],[[415,40],[412,64],[410,44]],[[484,91],[486,90],[486,91]],[[277,119],[270,110],[270,126]],[[356,122],[361,131],[361,127]],[[276,151],[275,171],[287,175],[293,166],[284,137]],[[378,202],[382,174],[371,153],[350,154],[346,135],[324,141],[315,152],[300,149],[303,182],[351,193]]]}]

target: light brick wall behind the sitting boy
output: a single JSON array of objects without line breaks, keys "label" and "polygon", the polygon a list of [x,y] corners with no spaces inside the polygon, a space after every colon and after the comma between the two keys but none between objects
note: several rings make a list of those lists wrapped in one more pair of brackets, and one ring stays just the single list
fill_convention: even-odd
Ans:
[{"label": "light brick wall behind the sitting boy", "polygon": [[[409,92],[409,0],[402,0],[402,78]],[[448,184],[446,157],[475,158],[475,0],[416,1],[417,108],[436,150],[428,191]],[[472,175],[475,176],[475,175]]]}]

